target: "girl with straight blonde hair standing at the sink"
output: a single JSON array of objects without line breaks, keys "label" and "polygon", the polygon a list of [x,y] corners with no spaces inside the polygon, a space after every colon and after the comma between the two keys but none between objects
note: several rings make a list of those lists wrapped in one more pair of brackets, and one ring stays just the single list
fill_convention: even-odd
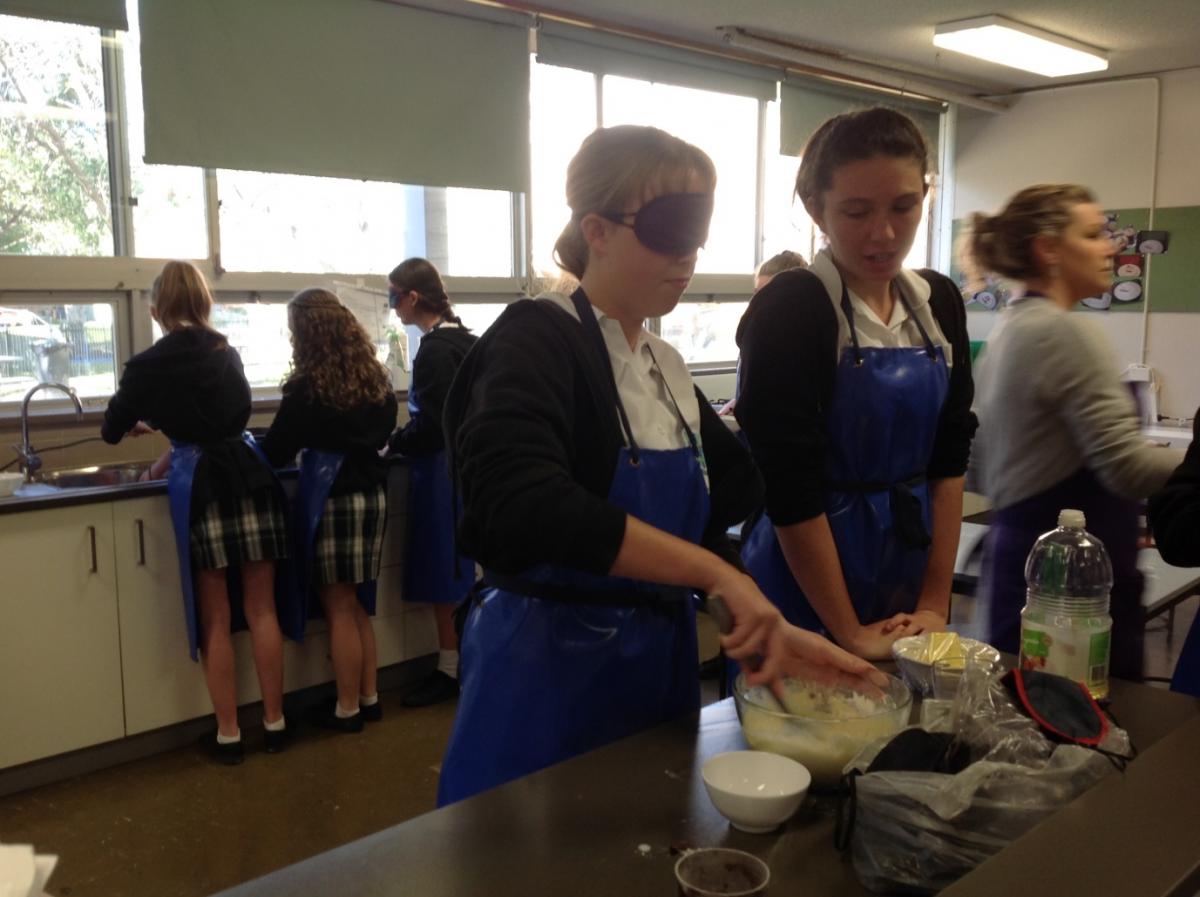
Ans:
[{"label": "girl with straight blonde hair standing at the sink", "polygon": [[[250,384],[238,351],[209,323],[212,296],[204,275],[187,261],[168,261],[155,278],[151,302],[164,336],[126,363],[101,435],[115,445],[154,428],[170,439],[152,475],[167,471],[188,648],[193,660],[199,654],[216,712],[217,732],[208,746],[217,760],[233,765],[242,760],[234,627],[250,628],[266,751],[287,744],[275,601],[275,561],[288,554],[282,494],[253,440],[244,437]],[[240,577],[227,582],[234,570]],[[280,610],[288,634],[299,637],[302,618],[289,606]]]}]

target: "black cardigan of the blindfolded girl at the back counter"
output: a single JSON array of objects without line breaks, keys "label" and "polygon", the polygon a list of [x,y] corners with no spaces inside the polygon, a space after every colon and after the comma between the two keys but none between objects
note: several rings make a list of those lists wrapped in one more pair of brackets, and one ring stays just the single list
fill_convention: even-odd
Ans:
[{"label": "black cardigan of the blindfolded girl at the back counter", "polygon": [[445,447],[442,433],[442,409],[446,393],[476,337],[463,327],[434,327],[424,337],[413,359],[413,379],[408,386],[413,403],[420,409],[397,429],[388,450],[394,454],[422,457]]}]

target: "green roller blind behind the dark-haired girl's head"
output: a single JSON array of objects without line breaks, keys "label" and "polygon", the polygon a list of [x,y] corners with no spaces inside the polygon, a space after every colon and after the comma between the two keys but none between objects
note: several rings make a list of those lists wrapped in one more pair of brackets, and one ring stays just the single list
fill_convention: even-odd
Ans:
[{"label": "green roller blind behind the dark-haired girl's head", "polygon": [[817,82],[804,83],[794,78],[780,85],[779,151],[787,156],[799,156],[804,144],[823,121],[844,112],[865,109],[870,106],[890,106],[908,115],[929,142],[930,167],[937,169],[940,106],[910,101],[892,94],[842,89]]}]

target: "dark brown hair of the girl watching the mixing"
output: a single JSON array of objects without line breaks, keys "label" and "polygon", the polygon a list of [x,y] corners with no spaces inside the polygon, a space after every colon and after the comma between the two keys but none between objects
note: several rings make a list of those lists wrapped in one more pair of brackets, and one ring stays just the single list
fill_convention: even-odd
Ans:
[{"label": "dark brown hair of the girl watching the mixing", "polygon": [[796,195],[809,215],[821,211],[821,194],[833,186],[833,175],[850,162],[874,156],[911,158],[929,174],[929,146],[920,128],[901,112],[886,106],[834,115],[804,144],[796,173]]}]

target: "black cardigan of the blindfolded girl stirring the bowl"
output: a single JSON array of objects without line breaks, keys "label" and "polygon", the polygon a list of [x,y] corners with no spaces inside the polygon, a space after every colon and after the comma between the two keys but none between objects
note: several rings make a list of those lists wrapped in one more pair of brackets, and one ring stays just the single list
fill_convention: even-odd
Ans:
[{"label": "black cardigan of the blindfolded girl stirring the bowl", "polygon": [[[608,378],[580,323],[551,302],[514,302],[480,338],[445,405],[464,554],[500,573],[610,571],[625,511],[607,499],[624,445]],[[737,562],[725,530],[761,502],[762,481],[696,395],[712,505],[702,543]]]}]

